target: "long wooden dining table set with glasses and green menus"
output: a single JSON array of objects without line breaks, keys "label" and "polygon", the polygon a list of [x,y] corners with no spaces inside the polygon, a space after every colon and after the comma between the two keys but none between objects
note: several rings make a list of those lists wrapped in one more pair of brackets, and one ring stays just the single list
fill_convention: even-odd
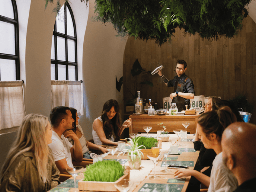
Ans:
[{"label": "long wooden dining table set with glasses and green menus", "polygon": [[[147,134],[140,134],[141,136],[147,136]],[[156,134],[148,134],[151,137],[156,137]],[[166,150],[169,149],[172,144],[177,144],[177,138],[178,136],[176,134],[169,134],[170,139],[167,142],[162,142],[162,149]],[[189,135],[187,138],[181,138],[178,142],[179,144],[183,145],[178,148],[180,155],[168,155],[167,157],[167,164],[182,164],[182,165],[188,165],[189,169],[194,169],[194,166],[196,164],[199,151],[194,150],[194,145],[192,142],[192,139],[194,138],[194,135]],[[171,144],[171,142],[172,144]],[[128,166],[127,162],[127,155],[119,155],[118,152],[113,157],[115,160],[124,163],[125,166]],[[104,157],[104,159],[112,160],[112,155],[107,155]],[[175,191],[175,192],[185,192],[190,176],[183,177],[183,179],[174,178],[173,174],[176,171],[175,169],[171,169],[170,173],[164,173],[161,172],[165,169],[165,159],[162,158],[160,161],[156,162],[155,166],[155,172],[157,176],[163,177],[162,180],[150,180],[149,177],[154,175],[154,163],[151,160],[141,160],[141,167],[139,170],[130,170],[130,181],[133,182],[132,188],[129,190],[129,192],[153,192],[155,188],[160,191]],[[79,176],[77,176],[76,180],[82,179],[83,174],[80,173]],[[76,185],[77,187],[77,185]],[[74,180],[73,177],[70,179],[64,181],[62,184],[58,185],[55,188],[52,188],[50,191],[54,192],[65,192],[65,191],[71,191],[72,188],[74,188]],[[157,191],[158,191],[157,190]]]}]

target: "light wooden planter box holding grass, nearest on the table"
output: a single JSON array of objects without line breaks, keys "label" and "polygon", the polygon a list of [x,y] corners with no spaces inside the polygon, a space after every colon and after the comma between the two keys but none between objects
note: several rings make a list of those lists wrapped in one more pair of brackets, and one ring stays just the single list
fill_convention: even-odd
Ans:
[{"label": "light wooden planter box holding grass, nearest on the table", "polygon": [[122,182],[124,179],[129,179],[130,169],[129,167],[125,169],[125,173],[120,177],[116,182],[100,182],[100,181],[78,181],[79,191],[108,191],[108,192],[117,192],[115,183]]}]

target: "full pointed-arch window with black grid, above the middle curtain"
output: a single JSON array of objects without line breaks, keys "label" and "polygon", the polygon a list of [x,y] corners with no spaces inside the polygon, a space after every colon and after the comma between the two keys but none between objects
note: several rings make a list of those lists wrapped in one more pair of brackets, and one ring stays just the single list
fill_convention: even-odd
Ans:
[{"label": "full pointed-arch window with black grid, above the middle curtain", "polygon": [[77,81],[76,23],[65,3],[58,13],[52,36],[51,79]]}]

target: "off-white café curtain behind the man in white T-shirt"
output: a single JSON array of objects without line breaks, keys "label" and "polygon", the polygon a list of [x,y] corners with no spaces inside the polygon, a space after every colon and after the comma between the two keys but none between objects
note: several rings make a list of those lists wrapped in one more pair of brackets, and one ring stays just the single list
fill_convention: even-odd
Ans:
[{"label": "off-white caf\u00e9 curtain behind the man in white T-shirt", "polygon": [[52,80],[52,108],[58,106],[73,107],[77,115],[83,115],[81,81]]}]

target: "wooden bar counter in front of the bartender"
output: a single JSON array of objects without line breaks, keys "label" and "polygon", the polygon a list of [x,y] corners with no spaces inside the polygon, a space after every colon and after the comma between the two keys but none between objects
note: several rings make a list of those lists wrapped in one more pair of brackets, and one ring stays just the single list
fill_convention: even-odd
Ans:
[{"label": "wooden bar counter in front of the bartender", "polygon": [[132,120],[132,125],[129,129],[129,133],[144,133],[143,126],[151,126],[152,129],[149,133],[153,133],[163,129],[157,125],[163,122],[163,125],[166,126],[167,132],[173,132],[174,129],[183,129],[185,127],[182,125],[183,122],[188,122],[189,126],[187,128],[188,134],[196,133],[196,122],[199,115],[198,112],[196,115],[154,115],[149,116],[148,114],[141,115],[130,115],[129,118]]}]

